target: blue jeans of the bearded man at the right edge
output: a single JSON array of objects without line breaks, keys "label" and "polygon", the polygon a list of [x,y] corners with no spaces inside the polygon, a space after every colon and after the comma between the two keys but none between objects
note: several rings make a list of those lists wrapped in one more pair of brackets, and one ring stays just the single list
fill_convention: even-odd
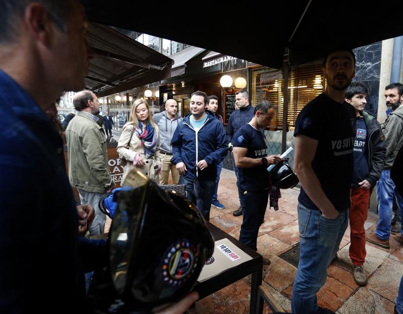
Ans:
[{"label": "blue jeans of the bearded man at the right edge", "polygon": [[[397,192],[395,185],[390,178],[390,170],[382,170],[381,178],[378,180],[376,185],[379,219],[376,225],[375,234],[378,238],[383,240],[388,240],[390,236],[393,195],[396,197],[397,206],[401,211],[403,209],[403,199]],[[401,232],[401,234],[403,236],[403,232]]]}]

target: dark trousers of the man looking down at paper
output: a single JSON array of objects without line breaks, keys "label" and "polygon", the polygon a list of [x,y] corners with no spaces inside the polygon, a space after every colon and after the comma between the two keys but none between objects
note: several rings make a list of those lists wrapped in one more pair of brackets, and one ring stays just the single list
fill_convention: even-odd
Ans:
[{"label": "dark trousers of the man looking down at paper", "polygon": [[[243,190],[242,190],[243,191]],[[242,225],[239,241],[257,250],[257,234],[263,222],[268,201],[268,189],[263,191],[243,191]]]}]

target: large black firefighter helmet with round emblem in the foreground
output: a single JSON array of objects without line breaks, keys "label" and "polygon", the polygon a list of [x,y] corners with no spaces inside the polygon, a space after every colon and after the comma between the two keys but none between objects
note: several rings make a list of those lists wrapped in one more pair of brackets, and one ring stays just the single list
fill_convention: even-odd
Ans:
[{"label": "large black firefighter helmet with round emblem in the foreground", "polygon": [[[132,170],[115,194],[109,266],[94,276],[89,294],[105,312],[150,312],[189,293],[214,252],[196,207]],[[101,307],[101,308],[99,308]]]}]

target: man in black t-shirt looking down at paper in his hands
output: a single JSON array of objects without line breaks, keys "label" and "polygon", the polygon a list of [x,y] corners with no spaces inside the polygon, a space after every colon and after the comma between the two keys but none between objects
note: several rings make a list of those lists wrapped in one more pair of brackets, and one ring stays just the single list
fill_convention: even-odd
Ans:
[{"label": "man in black t-shirt looking down at paper in his hands", "polygon": [[[263,222],[268,200],[268,165],[279,163],[280,156],[267,156],[265,128],[276,110],[270,101],[261,101],[254,108],[252,120],[234,135],[232,145],[235,164],[239,168],[239,185],[244,199],[243,221],[239,241],[257,250],[257,234]],[[265,259],[263,264],[270,264]]]}]

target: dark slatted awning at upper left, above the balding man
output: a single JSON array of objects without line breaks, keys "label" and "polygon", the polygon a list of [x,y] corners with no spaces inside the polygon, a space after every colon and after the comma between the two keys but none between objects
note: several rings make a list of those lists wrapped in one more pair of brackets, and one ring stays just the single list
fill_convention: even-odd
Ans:
[{"label": "dark slatted awning at upper left, above the balding man", "polygon": [[91,23],[86,37],[96,57],[85,83],[98,97],[171,77],[171,58],[108,26]]}]

